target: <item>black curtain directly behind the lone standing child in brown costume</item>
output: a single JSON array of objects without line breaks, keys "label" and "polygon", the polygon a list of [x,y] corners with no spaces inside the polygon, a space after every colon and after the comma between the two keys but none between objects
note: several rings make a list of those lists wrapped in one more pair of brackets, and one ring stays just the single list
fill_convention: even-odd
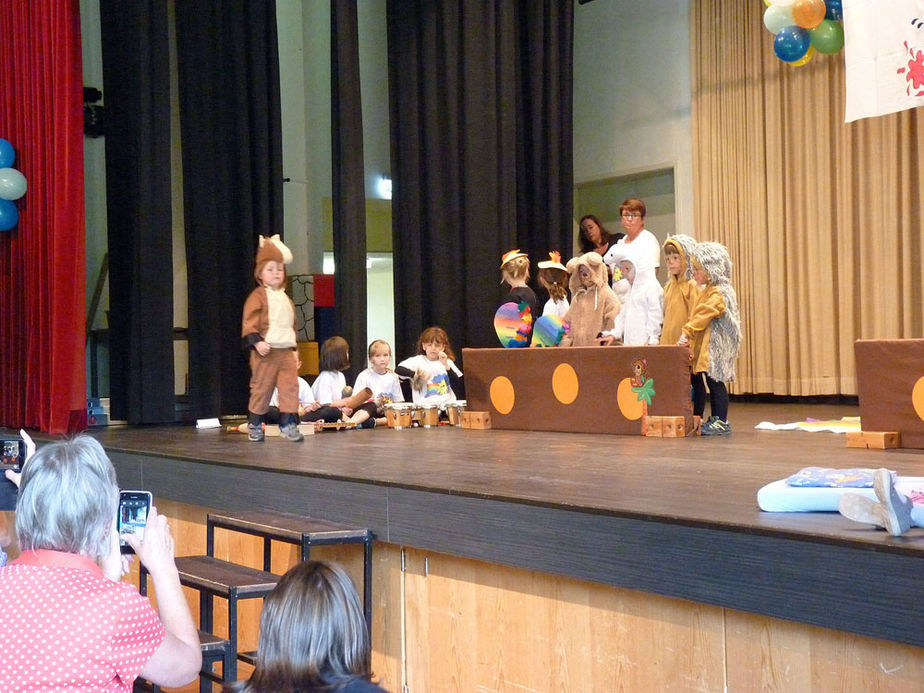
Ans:
[{"label": "black curtain directly behind the lone standing child in brown costume", "polygon": [[274,2],[176,0],[189,391],[197,417],[247,410],[241,309],[258,236],[282,233]]}]

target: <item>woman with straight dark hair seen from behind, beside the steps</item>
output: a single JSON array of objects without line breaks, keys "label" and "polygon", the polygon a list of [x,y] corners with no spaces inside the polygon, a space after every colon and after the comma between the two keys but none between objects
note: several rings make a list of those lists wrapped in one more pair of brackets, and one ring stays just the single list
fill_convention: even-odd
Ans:
[{"label": "woman with straight dark hair seen from behind, beside the steps", "polygon": [[384,693],[371,682],[369,631],[342,568],[304,561],[263,602],[253,675],[231,693]]}]

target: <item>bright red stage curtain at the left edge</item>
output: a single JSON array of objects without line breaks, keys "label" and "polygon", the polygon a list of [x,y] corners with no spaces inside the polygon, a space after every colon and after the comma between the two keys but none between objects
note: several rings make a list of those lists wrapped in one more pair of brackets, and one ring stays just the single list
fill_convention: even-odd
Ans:
[{"label": "bright red stage curtain at the left edge", "polygon": [[0,424],[86,427],[83,94],[77,0],[0,6],[0,137],[28,181],[0,232]]}]

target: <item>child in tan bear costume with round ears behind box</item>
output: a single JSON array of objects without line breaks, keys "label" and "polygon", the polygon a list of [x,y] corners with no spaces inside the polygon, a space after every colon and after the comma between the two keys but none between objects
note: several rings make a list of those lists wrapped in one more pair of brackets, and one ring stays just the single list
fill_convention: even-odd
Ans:
[{"label": "child in tan bear costume with round ears behind box", "polygon": [[561,346],[596,346],[602,332],[612,330],[622,304],[609,285],[606,265],[593,251],[568,260],[571,306],[564,321],[568,332]]}]

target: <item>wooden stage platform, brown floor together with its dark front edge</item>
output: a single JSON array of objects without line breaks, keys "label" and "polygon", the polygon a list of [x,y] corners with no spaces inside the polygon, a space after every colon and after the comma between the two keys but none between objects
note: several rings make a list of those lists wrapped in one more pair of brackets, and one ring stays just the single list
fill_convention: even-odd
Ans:
[{"label": "wooden stage platform, brown floor together with its dark front edge", "polygon": [[764,513],[804,466],[924,476],[915,450],[759,431],[856,407],[733,402],[728,437],[432,429],[301,444],[192,427],[94,430],[125,488],[217,509],[370,527],[379,541],[924,645],[924,529],[892,538],[836,513]]}]

